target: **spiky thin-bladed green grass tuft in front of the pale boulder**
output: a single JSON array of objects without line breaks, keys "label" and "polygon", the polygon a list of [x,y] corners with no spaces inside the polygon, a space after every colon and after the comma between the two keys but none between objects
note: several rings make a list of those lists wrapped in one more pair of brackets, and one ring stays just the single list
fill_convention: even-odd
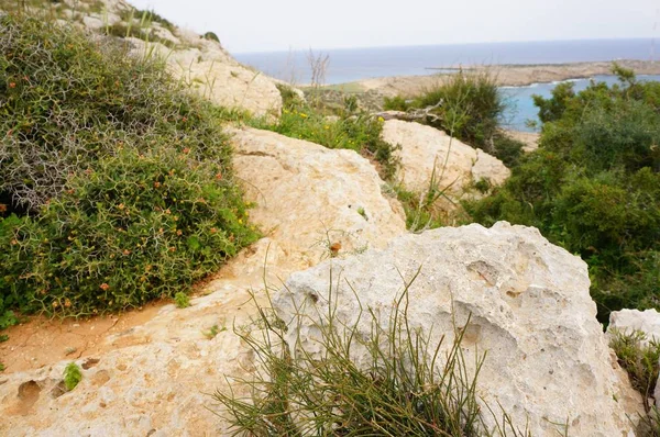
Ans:
[{"label": "spiky thin-bladed green grass tuft in front of the pale boulder", "polygon": [[[331,302],[330,311],[314,323],[311,330],[318,335],[309,348],[299,334],[294,344],[286,340],[287,333],[300,333],[308,323],[302,309],[287,325],[272,309],[256,304],[258,317],[251,329],[234,329],[256,357],[251,377],[234,380],[251,395],[239,397],[230,386],[213,396],[232,435],[527,437],[529,433],[515,427],[507,414],[485,432],[486,412],[476,394],[485,354],[469,369],[461,348],[465,329],[457,329],[441,352],[444,337],[431,344],[428,332],[409,326],[408,289],[414,280],[387,320],[358,302],[358,322],[372,321],[369,338],[358,333],[358,323],[343,324],[333,311],[337,302]],[[358,349],[366,351],[364,361],[356,362]],[[495,417],[493,411],[486,414]]]}]

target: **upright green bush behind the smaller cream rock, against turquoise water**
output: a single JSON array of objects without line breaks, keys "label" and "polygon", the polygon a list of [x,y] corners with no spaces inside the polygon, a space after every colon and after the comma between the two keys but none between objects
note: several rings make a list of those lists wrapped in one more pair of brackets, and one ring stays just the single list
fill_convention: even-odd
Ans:
[{"label": "upright green bush behind the smaller cream rock, against turquoise water", "polygon": [[496,78],[488,71],[459,71],[414,99],[385,98],[384,107],[397,111],[429,109],[426,123],[496,156],[508,167],[516,164],[522,150],[521,143],[499,130],[506,103]]}]

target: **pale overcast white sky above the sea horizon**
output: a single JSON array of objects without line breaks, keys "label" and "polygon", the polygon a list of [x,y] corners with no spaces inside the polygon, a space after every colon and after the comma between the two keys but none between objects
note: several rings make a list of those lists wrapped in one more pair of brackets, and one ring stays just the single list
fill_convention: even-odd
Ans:
[{"label": "pale overcast white sky above the sea horizon", "polygon": [[232,53],[649,37],[659,0],[129,0]]}]

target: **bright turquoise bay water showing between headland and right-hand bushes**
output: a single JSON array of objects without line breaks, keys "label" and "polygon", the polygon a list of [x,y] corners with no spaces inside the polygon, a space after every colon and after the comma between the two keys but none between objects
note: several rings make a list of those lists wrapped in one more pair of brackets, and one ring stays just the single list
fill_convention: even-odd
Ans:
[{"label": "bright turquoise bay water showing between headland and right-hand bushes", "polygon": [[[638,76],[639,80],[654,80],[660,81],[660,75],[654,76]],[[575,91],[584,90],[591,80],[598,82],[606,82],[608,85],[617,83],[615,76],[594,76],[592,79],[572,79],[573,89]],[[557,87],[558,82],[552,83],[534,83],[528,87],[502,87],[502,91],[508,103],[507,111],[505,112],[502,123],[505,127],[534,132],[535,128],[527,126],[527,121],[538,121],[538,109],[534,105],[532,94],[539,94],[544,98],[551,96],[552,90]],[[538,131],[538,128],[536,128]]]}]

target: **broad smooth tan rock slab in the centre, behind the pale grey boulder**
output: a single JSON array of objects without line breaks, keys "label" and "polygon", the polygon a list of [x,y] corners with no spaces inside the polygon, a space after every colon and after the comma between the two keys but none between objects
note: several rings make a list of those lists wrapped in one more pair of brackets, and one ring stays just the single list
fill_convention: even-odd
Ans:
[{"label": "broad smooth tan rock slab in the centre, behind the pale grey boulder", "polygon": [[231,133],[237,176],[256,203],[251,218],[298,268],[384,247],[406,232],[400,205],[382,194],[384,182],[355,152],[253,128]]}]

